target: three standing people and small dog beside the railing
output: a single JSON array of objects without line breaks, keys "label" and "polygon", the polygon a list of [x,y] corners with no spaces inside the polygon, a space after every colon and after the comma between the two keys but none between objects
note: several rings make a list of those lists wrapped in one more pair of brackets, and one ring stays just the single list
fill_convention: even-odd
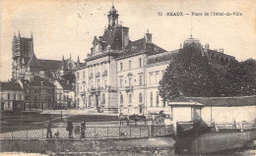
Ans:
[{"label": "three standing people and small dog beside the railing", "polygon": [[[51,123],[52,123],[51,121],[48,123],[46,138],[49,138],[49,137],[52,138]],[[69,138],[73,138],[74,126],[72,121],[68,121],[66,130],[69,132]],[[81,138],[86,138],[86,122],[81,123],[80,130],[81,130]],[[54,135],[58,138],[59,131],[57,131]]]}]

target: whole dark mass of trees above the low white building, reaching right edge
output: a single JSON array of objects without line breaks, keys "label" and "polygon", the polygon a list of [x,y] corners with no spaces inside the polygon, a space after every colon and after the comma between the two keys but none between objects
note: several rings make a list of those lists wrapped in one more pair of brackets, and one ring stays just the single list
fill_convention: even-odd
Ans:
[{"label": "whole dark mass of trees above the low white building, reaching right edge", "polygon": [[214,68],[200,43],[184,45],[160,80],[160,96],[168,101],[184,96],[214,97],[256,94],[256,61],[232,61]]}]

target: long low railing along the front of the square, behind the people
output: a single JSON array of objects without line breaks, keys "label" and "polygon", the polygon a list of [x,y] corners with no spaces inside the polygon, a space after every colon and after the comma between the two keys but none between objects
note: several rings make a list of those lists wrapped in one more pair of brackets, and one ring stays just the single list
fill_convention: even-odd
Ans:
[{"label": "long low railing along the front of the square, behind the people", "polygon": [[[66,127],[52,128],[52,135],[59,132],[59,138],[68,138]],[[46,129],[38,130],[19,130],[0,133],[0,138],[4,139],[44,139],[46,138]],[[173,133],[172,125],[169,126],[115,126],[115,127],[87,127],[86,139],[105,139],[105,138],[140,138],[140,137],[158,137],[171,135]],[[73,137],[79,139],[81,131],[79,126],[75,126]]]}]

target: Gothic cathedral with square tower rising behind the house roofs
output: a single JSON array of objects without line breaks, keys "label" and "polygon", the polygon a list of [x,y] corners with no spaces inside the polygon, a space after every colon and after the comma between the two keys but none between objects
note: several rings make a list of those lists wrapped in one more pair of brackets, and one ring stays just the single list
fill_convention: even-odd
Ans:
[{"label": "Gothic cathedral with square tower rising behind the house roofs", "polygon": [[30,78],[39,76],[53,81],[56,78],[63,78],[75,72],[82,64],[79,57],[77,62],[70,58],[59,60],[37,59],[33,51],[33,36],[30,38],[14,34],[12,41],[12,78]]}]

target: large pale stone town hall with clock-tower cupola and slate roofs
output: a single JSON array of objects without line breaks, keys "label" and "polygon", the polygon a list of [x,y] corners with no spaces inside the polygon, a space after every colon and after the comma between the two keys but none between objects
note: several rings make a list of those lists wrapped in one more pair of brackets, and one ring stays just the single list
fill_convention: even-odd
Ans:
[{"label": "large pale stone town hall with clock-tower cupola and slate roofs", "polygon": [[[76,72],[77,109],[103,110],[106,113],[146,114],[169,111],[159,94],[159,81],[166,67],[182,49],[166,51],[154,44],[147,31],[138,40],[129,40],[129,27],[118,24],[114,6],[108,12],[108,26],[95,37],[85,65]],[[196,43],[202,55],[218,62],[234,57],[223,50],[210,50],[192,36],[184,46]]]}]

